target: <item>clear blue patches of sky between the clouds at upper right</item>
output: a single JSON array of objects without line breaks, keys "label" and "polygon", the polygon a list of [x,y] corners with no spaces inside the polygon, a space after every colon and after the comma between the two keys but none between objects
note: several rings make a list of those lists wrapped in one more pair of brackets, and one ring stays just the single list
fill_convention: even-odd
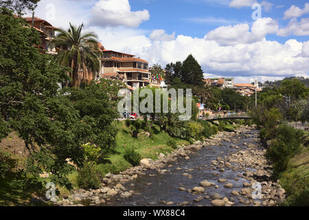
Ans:
[{"label": "clear blue patches of sky between the clouds at upper right", "polygon": [[[183,34],[203,38],[207,32],[221,25],[235,25],[236,23],[253,23],[251,7],[229,8],[229,1],[207,0],[133,0],[130,5],[133,11],[144,10],[150,12],[150,20],[141,23],[139,28],[165,29],[166,32]],[[262,2],[262,1],[261,1]],[[297,1],[268,1],[273,4],[270,11],[262,9],[262,17],[271,17],[284,27],[288,20],[283,20],[284,12],[291,5],[304,8],[306,0]],[[276,6],[278,8],[276,8]],[[308,41],[308,36],[295,36],[293,39]],[[291,36],[276,36],[269,34],[266,39],[285,43]]]}]

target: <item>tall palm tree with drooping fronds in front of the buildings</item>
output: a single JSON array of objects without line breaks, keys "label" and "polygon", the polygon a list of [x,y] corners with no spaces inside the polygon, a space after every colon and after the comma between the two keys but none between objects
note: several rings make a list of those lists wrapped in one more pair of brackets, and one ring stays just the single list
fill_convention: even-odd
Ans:
[{"label": "tall palm tree with drooping fronds in front of the buildings", "polygon": [[[98,36],[92,32],[82,33],[84,25],[78,28],[69,23],[69,30],[56,29],[57,36],[52,40],[53,45],[66,46],[67,50],[61,50],[56,56],[56,63],[65,67],[71,67],[72,86],[79,87],[80,81],[87,81],[89,73],[95,74],[100,70],[100,57],[102,51],[99,48]],[[78,72],[82,72],[82,78]]]}]

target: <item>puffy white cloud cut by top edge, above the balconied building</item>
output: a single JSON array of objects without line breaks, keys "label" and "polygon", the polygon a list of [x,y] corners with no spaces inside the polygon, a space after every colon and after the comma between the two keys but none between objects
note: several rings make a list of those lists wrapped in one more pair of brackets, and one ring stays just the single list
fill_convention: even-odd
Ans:
[{"label": "puffy white cloud cut by top edge, above the balconied building", "polygon": [[91,23],[102,27],[137,28],[150,18],[148,10],[131,11],[128,0],[100,0],[92,8],[92,15]]}]

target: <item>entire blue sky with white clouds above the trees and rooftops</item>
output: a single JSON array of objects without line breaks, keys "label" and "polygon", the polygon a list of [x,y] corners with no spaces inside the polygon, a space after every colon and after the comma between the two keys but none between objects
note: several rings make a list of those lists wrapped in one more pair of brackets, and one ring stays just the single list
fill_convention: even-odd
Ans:
[{"label": "entire blue sky with white clouds above the trees and rooftops", "polygon": [[[262,9],[257,20],[254,3]],[[150,66],[192,54],[205,77],[309,76],[308,0],[41,0],[36,16],[60,28],[84,23],[107,49]]]}]

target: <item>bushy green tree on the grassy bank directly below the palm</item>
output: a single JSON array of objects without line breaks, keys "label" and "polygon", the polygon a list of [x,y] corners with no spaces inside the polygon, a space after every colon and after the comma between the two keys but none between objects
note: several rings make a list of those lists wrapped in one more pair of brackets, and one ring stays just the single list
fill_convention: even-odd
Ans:
[{"label": "bushy green tree on the grassy bank directly below the palm", "polygon": [[[112,87],[113,90],[110,90]],[[117,89],[115,81],[102,79],[100,83],[91,81],[84,89],[65,88],[62,93],[69,94],[67,98],[71,100],[74,109],[80,115],[83,123],[88,124],[91,135],[82,140],[84,143],[90,142],[99,146],[102,153],[108,153],[115,146],[115,136],[117,129],[112,125],[115,118],[118,117],[117,107]]]}]

